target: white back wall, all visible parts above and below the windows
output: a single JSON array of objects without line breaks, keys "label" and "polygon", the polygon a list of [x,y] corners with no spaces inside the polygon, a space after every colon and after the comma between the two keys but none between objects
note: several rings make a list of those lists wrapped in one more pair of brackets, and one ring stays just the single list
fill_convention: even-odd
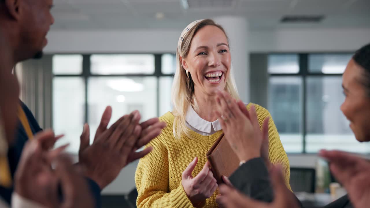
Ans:
[{"label": "white back wall, all visible parts above and below the windows", "polygon": [[[174,52],[178,30],[51,31],[46,53],[166,53]],[[370,42],[370,28],[279,29],[249,31],[253,52],[354,51]],[[314,167],[315,155],[289,155],[292,167]],[[135,186],[136,164],[126,167],[104,194],[121,194]]]}]

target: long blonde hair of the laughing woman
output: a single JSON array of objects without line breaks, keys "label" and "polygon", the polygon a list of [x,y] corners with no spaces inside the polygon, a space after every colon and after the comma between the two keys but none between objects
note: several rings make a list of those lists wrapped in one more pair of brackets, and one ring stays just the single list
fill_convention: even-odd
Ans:
[{"label": "long blonde hair of the laughing woman", "polygon": [[[198,110],[198,105],[194,96],[194,83],[190,74],[190,79],[188,79],[186,70],[182,67],[180,57],[185,58],[188,55],[193,37],[195,36],[196,32],[205,26],[215,26],[220,28],[223,33],[225,33],[229,43],[229,38],[223,27],[216,24],[211,19],[199,21],[194,27],[190,28],[184,37],[181,37],[184,40],[181,44],[179,44],[180,47],[177,47],[176,72],[174,76],[174,82],[172,84],[172,104],[174,105],[172,113],[175,116],[174,135],[177,139],[180,139],[182,134],[185,134],[188,137],[190,136],[190,130],[186,126],[186,113],[188,111],[189,104],[191,104],[195,110]],[[235,79],[232,71],[230,71],[229,77],[226,80],[225,91],[231,94],[233,98],[239,99],[238,90],[236,89]]]}]

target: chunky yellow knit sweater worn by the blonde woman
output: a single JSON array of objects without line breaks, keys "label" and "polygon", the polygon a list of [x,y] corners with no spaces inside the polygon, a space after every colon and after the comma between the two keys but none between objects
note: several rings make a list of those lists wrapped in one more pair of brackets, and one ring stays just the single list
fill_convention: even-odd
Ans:
[{"label": "chunky yellow knit sweater worn by the blonde woman", "polygon": [[[250,104],[247,106],[249,110]],[[262,128],[263,121],[270,113],[263,107],[255,105],[258,121]],[[141,158],[136,173],[135,183],[138,190],[137,207],[192,208],[181,184],[182,172],[189,163],[198,157],[198,164],[192,172],[195,177],[206,163],[206,152],[213,142],[222,134],[222,130],[209,136],[191,131],[191,137],[182,136],[176,140],[173,132],[174,115],[168,112],[159,118],[167,123],[162,133],[149,142],[153,151]],[[273,164],[282,164],[285,171],[287,187],[289,185],[289,161],[279,134],[272,119],[269,121],[269,158]],[[218,207],[216,204],[217,189],[211,198],[206,200],[205,208]]]}]

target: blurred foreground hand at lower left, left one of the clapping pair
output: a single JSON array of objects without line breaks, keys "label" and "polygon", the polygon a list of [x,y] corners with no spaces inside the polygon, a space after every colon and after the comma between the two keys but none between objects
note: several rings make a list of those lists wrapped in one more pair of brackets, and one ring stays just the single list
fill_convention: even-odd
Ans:
[{"label": "blurred foreground hand at lower left, left one of the clapping pair", "polygon": [[15,174],[16,193],[46,207],[54,207],[58,202],[58,178],[51,162],[67,147],[49,151],[58,138],[48,130],[35,135],[24,147]]}]

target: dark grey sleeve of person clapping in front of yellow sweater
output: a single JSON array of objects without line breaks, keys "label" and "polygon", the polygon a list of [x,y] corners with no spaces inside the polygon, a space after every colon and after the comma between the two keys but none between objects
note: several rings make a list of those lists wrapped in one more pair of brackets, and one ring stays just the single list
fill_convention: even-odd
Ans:
[{"label": "dark grey sleeve of person clapping in front of yellow sweater", "polygon": [[236,189],[250,198],[272,202],[269,172],[262,158],[253,158],[241,165],[229,178]]}]

